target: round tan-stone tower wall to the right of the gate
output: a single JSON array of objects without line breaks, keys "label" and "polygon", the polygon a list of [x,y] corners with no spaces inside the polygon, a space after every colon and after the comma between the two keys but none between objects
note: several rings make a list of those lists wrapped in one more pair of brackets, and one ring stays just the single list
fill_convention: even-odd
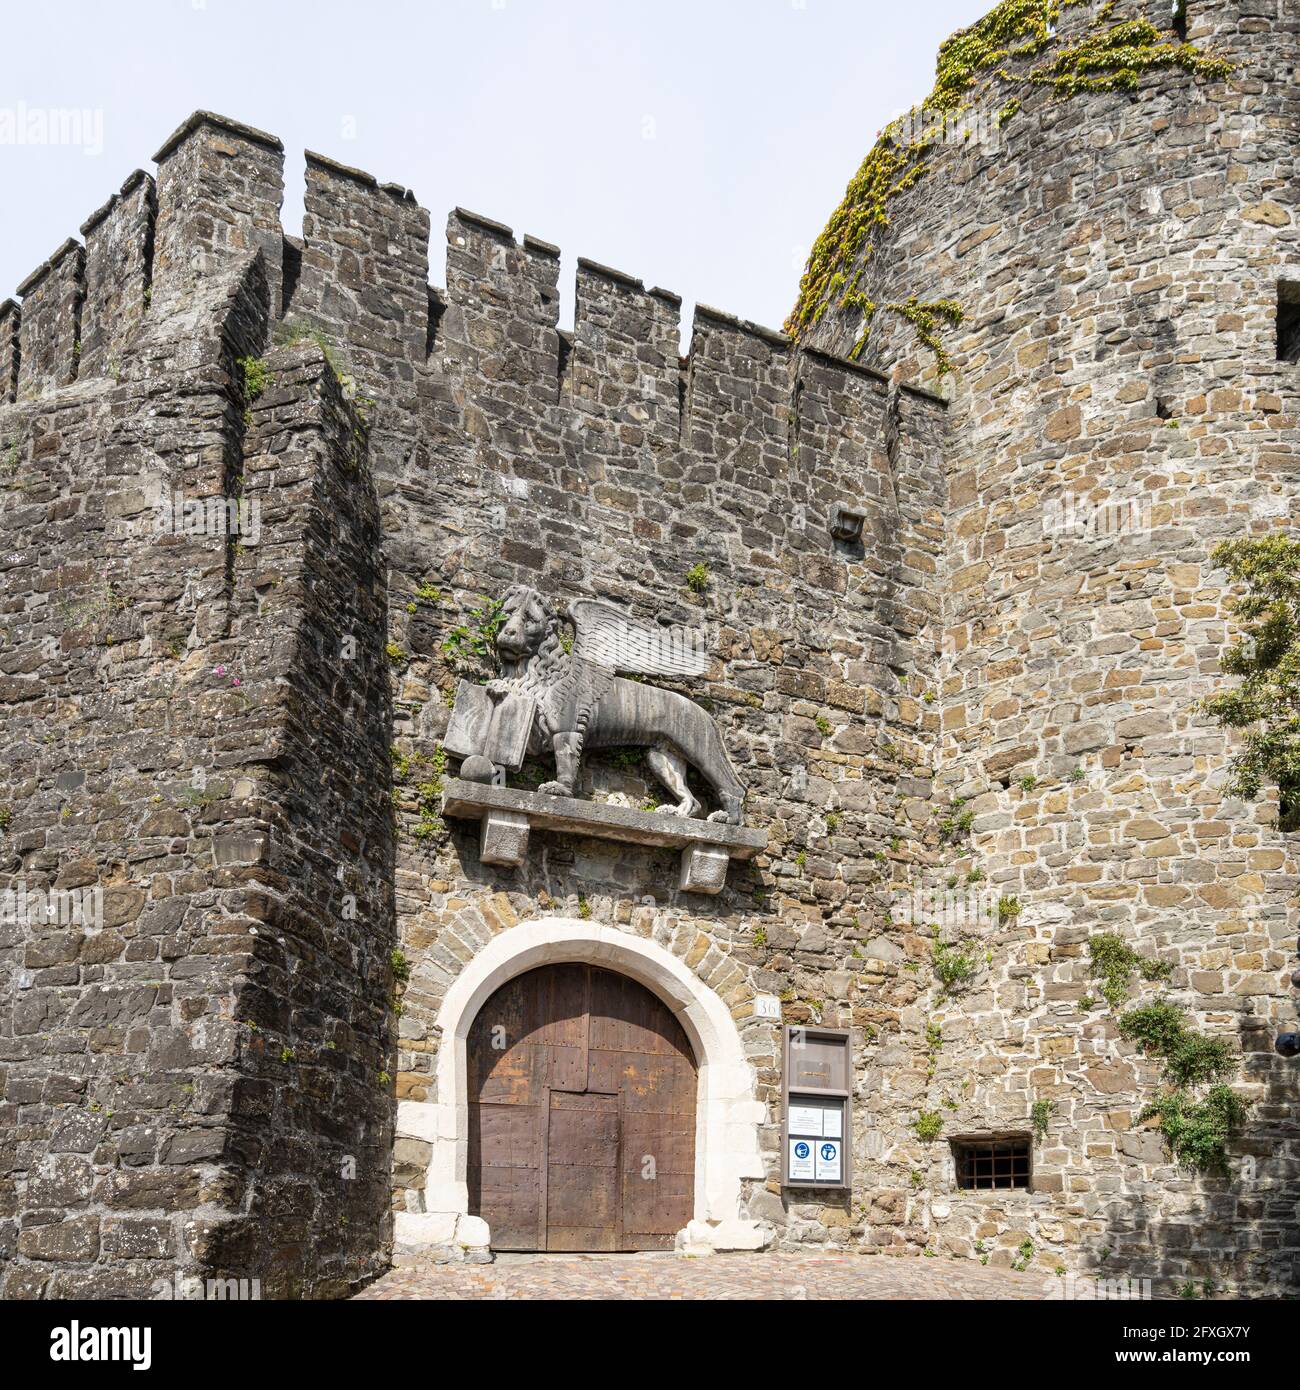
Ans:
[{"label": "round tan-stone tower wall to the right of the gate", "polygon": [[[976,867],[1023,906],[937,1009],[922,1094],[955,1102],[944,1137],[1023,1127],[1011,1122],[1034,1098],[1057,1106],[1043,1195],[969,1200],[922,1173],[932,1218],[945,1213],[940,1250],[1014,1227],[1071,1268],[1075,1247],[1157,1287],[1278,1294],[1294,1279],[1300,1154],[1294,1069],[1272,1040],[1294,1017],[1300,859],[1275,792],[1225,794],[1232,741],[1194,703],[1232,632],[1210,550],[1300,510],[1300,374],[1276,350],[1279,282],[1300,279],[1300,15],[1274,0],[1187,10],[1189,39],[1230,79],[1018,90],[991,147],[936,146],[861,282],[880,303],[915,293],[965,316],[943,334],[943,733],[918,813],[930,883]],[[1097,22],[1097,6],[1065,10],[1062,38]],[[808,341],[848,352],[859,318],[831,309]],[[877,316],[861,360],[936,375],[897,314]],[[973,828],[940,845],[954,798]],[[1086,941],[1101,931],[1175,967],[1135,1001],[1172,998],[1239,1044],[1254,1111],[1229,1179],[1180,1172],[1136,1123],[1158,1070],[1097,999]]]}]

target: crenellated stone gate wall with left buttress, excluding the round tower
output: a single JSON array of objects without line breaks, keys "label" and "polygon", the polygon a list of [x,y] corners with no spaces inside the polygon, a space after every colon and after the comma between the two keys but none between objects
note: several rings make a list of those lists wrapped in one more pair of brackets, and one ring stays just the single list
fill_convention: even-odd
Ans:
[{"label": "crenellated stone gate wall with left buttress, excluding the round tower", "polygon": [[[33,734],[7,763],[6,881],[111,885],[103,931],[7,927],[6,1289],[138,1291],[177,1265],[289,1293],[364,1279],[389,1241],[393,1093],[399,1113],[434,1098],[448,986],[494,933],[566,910],[665,945],[742,1026],[770,1104],[755,1218],[794,1240],[847,1227],[776,1195],[779,1029],[751,999],[847,1023],[879,937],[909,835],[895,784],[926,737],[909,673],[936,641],[943,402],[704,309],[681,359],[680,300],[585,261],[560,332],[555,247],[463,211],[431,289],[412,195],[323,156],[304,236],[284,238],[278,142],[222,118],[193,117],[159,165],[3,320],[7,549],[42,556],[7,598],[7,698]],[[261,502],[260,543],[159,539],[153,484]],[[831,539],[845,499],[865,545]],[[51,517],[71,537],[44,543]],[[716,635],[705,699],[772,855],[708,912],[662,851],[541,834],[516,877],[430,815],[444,641],[520,581]],[[63,653],[68,624],[64,674],[42,644]],[[117,752],[74,833],[60,778],[82,791],[92,714]],[[616,760],[590,781],[651,792]],[[424,1208],[412,1127],[402,1216]]]}]

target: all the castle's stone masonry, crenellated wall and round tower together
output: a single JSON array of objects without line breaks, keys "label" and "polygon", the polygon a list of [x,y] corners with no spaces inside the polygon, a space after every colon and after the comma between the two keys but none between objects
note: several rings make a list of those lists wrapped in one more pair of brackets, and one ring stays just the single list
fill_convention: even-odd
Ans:
[{"label": "all the castle's stone masonry, crenellated wall and round tower together", "polygon": [[[556,249],[464,210],[432,288],[414,196],[318,154],[285,236],[279,142],[206,113],[0,306],[0,890],[106,906],[96,931],[0,926],[7,1295],[175,1268],[328,1295],[382,1265],[391,1212],[399,1251],[455,1241],[439,1009],[512,931],[576,920],[730,1012],[762,1111],[738,1215],[770,1243],[1290,1279],[1269,1044],[1297,865],[1275,808],[1225,801],[1190,703],[1228,631],[1210,545],[1294,503],[1297,386],[1268,345],[1294,33],[1281,0],[1190,10],[1239,76],[1030,95],[998,150],[940,152],[902,195],[872,292],[962,302],[943,381],[902,318],[850,363],[847,317],[794,345],[701,307],[680,357],[677,297],[588,261],[564,332]],[[259,500],[259,543],[160,541],[157,480]],[[1044,534],[1084,492],[1148,525]],[[862,545],[833,539],[837,502]],[[666,851],[539,831],[492,867],[438,815],[450,696],[482,673],[455,634],[516,582],[715,634],[690,689],[769,831],[720,897],[680,891]],[[584,794],[656,788],[592,755]],[[955,796],[972,833],[944,845]],[[1021,913],[950,995],[945,933],[897,908],[976,867]],[[1080,1006],[1098,930],[1242,1040],[1249,1180],[1192,1180],[1136,1125],[1154,1072]],[[848,1200],[781,1190],[756,994],[854,1030]],[[1033,1190],[955,1191],[945,1140],[1027,1131],[1034,1099],[1057,1106]]]}]

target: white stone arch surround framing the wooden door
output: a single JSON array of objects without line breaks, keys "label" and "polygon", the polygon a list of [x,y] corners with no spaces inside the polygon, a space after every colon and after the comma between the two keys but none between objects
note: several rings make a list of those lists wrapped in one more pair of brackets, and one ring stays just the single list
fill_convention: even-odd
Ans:
[{"label": "white stone arch surround framing the wooden door", "polygon": [[453,981],[438,1011],[437,1099],[402,1101],[398,1136],[432,1145],[424,1212],[399,1212],[395,1240],[407,1248],[488,1243],[469,1218],[470,1024],[507,980],[537,966],[580,960],[630,976],[658,995],[685,1030],[699,1072],[695,1108],[695,1218],[680,1243],[692,1248],[756,1250],[770,1227],[741,1211],[741,1184],[762,1180],[759,1130],[766,1108],[730,1009],[677,956],[645,937],[574,917],[524,922],[494,937]]}]

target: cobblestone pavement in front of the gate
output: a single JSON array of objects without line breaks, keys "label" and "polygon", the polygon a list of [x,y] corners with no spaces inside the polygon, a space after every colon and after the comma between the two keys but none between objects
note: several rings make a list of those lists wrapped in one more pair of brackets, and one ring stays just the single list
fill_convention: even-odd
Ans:
[{"label": "cobblestone pavement in front of the gate", "polygon": [[1050,1276],[888,1255],[498,1255],[389,1270],[357,1298],[1044,1298]]}]

